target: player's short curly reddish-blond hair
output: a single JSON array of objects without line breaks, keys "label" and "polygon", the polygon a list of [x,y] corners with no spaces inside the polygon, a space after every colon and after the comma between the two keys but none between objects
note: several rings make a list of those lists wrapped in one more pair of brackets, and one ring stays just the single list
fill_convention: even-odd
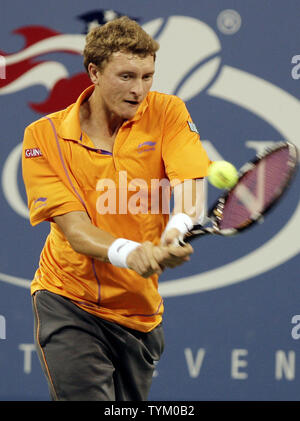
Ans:
[{"label": "player's short curly reddish-blond hair", "polygon": [[141,57],[152,55],[154,60],[159,44],[134,20],[127,16],[93,28],[86,36],[83,51],[84,67],[89,63],[103,70],[110,56],[118,51]]}]

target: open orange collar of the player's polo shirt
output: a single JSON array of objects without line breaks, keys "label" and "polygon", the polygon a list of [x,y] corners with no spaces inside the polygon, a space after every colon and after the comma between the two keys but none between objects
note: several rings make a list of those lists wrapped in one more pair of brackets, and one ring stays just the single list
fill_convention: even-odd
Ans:
[{"label": "open orange collar of the player's polo shirt", "polygon": [[[82,142],[83,136],[79,118],[80,106],[89,96],[91,96],[91,94],[94,91],[94,88],[94,85],[89,86],[81,93],[77,101],[66,109],[66,116],[63,118],[60,128],[58,130],[58,133],[62,138]],[[125,121],[124,125],[128,125],[130,123],[138,121],[146,111],[147,107],[148,98],[146,97],[139,106],[134,117],[130,120]]]}]

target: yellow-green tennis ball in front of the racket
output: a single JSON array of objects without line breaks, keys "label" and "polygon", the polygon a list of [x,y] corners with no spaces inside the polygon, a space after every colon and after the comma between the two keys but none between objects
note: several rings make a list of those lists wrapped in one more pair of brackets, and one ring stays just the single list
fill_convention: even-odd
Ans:
[{"label": "yellow-green tennis ball in front of the racket", "polygon": [[208,167],[208,181],[218,189],[230,189],[238,181],[238,172],[230,162],[214,161]]}]

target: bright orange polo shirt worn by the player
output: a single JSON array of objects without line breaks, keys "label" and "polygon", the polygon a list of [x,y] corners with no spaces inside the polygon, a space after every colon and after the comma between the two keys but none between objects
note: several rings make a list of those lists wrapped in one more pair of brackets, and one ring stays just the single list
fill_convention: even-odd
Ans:
[{"label": "bright orange polo shirt worn by the player", "polygon": [[165,182],[204,177],[210,161],[184,103],[158,92],[149,92],[124,122],[112,154],[96,149],[79,120],[80,104],[93,89],[25,130],[30,222],[51,225],[31,293],[46,289],[94,315],[148,332],[162,320],[157,275],[144,279],[75,252],[53,217],[86,211],[95,226],[116,237],[159,243],[169,211]]}]

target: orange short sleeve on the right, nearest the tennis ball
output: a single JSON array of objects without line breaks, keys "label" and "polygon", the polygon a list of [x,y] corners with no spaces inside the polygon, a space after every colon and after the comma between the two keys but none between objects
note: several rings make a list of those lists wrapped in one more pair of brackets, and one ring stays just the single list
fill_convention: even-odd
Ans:
[{"label": "orange short sleeve on the right, nearest the tennis ball", "polygon": [[171,96],[166,107],[162,157],[170,181],[203,178],[210,160],[184,102]]}]

